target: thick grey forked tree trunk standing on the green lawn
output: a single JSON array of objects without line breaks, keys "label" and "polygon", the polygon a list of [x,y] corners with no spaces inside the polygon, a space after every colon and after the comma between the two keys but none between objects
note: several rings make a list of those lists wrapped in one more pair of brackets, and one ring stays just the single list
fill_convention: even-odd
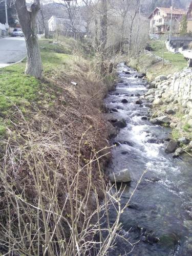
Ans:
[{"label": "thick grey forked tree trunk standing on the green lawn", "polygon": [[40,9],[39,0],[34,0],[31,5],[31,11],[27,10],[25,0],[15,0],[15,9],[26,40],[27,64],[25,73],[41,79],[42,63],[36,26],[36,17]]}]

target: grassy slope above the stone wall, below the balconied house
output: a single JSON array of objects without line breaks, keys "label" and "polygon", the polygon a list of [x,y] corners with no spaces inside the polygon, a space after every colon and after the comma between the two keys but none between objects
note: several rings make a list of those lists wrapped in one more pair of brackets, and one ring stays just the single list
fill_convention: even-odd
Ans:
[{"label": "grassy slope above the stone wall, below the balconied house", "polygon": [[169,61],[162,65],[162,60],[157,60],[156,56],[162,58],[163,56],[163,41],[151,40],[150,46],[152,47],[152,54],[141,53],[138,59],[132,59],[130,65],[135,67],[140,72],[146,73],[148,79],[164,74],[168,75],[174,72],[178,72],[187,67],[187,61],[182,54],[174,54],[168,52],[166,46],[164,46],[164,59]]}]

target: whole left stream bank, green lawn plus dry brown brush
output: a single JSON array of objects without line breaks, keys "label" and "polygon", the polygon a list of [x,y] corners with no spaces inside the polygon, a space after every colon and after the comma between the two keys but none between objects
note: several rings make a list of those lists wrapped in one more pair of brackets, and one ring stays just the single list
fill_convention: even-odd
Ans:
[{"label": "whole left stream bank, green lawn plus dry brown brush", "polygon": [[0,70],[0,252],[93,253],[99,202],[109,200],[101,112],[114,76],[74,39],[40,40],[40,48],[43,80],[25,75],[25,61]]}]

